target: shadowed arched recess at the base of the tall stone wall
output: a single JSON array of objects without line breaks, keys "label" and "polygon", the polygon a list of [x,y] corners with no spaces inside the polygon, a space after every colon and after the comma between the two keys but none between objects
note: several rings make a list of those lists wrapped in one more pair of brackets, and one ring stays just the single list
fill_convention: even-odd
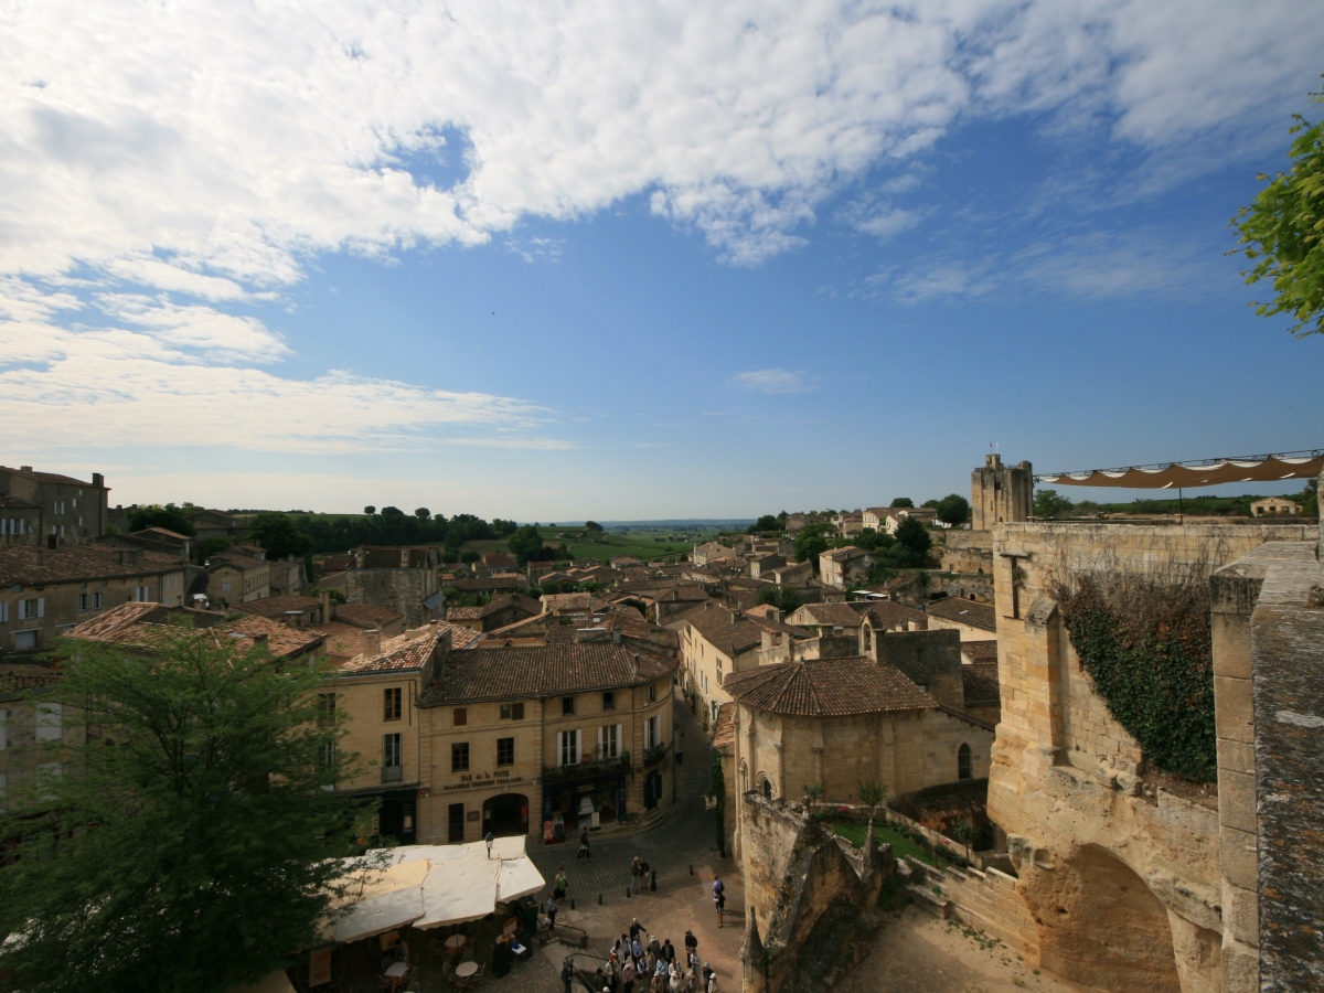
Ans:
[{"label": "shadowed arched recess at the base of the tall stone wall", "polygon": [[1121,859],[1083,845],[1027,875],[1045,969],[1116,993],[1181,993],[1168,911]]}]

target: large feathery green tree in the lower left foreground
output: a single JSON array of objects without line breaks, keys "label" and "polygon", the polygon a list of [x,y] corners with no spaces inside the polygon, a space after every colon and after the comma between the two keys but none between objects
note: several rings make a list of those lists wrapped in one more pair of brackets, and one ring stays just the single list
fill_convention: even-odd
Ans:
[{"label": "large feathery green tree in the lower left foreground", "polygon": [[319,944],[361,810],[324,789],[343,733],[318,708],[326,670],[185,628],[151,653],[77,642],[61,659],[40,702],[98,733],[37,745],[64,775],[0,814],[19,839],[0,933],[23,936],[0,947],[5,986],[225,990]]}]

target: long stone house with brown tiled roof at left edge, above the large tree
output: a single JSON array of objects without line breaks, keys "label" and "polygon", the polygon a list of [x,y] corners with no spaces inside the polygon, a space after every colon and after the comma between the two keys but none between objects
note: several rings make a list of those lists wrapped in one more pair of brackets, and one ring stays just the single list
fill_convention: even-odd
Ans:
[{"label": "long stone house with brown tiled roof at left edge, above the large tree", "polygon": [[75,625],[124,602],[184,604],[185,565],[138,549],[0,549],[0,657],[48,651]]}]

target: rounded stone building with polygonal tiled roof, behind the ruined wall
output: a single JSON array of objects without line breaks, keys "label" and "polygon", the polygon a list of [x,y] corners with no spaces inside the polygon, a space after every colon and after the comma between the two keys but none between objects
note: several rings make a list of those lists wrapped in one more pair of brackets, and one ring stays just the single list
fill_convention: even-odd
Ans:
[{"label": "rounded stone building with polygonal tiled roof, behind the ruined wall", "polygon": [[[883,782],[896,796],[988,775],[992,726],[940,704],[935,695],[944,688],[925,692],[887,661],[855,655],[761,666],[728,675],[724,688],[735,703],[737,794],[794,801],[821,785],[822,802],[849,804],[859,802],[861,782]],[[955,692],[959,700],[959,679]],[[740,810],[737,857],[748,851],[749,830]]]}]

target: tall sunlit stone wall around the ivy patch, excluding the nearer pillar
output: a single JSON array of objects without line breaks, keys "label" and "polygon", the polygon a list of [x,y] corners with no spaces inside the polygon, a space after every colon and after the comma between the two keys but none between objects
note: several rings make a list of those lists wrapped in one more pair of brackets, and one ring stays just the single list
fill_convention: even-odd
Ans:
[{"label": "tall sunlit stone wall around the ivy patch, excluding the nearer pillar", "polygon": [[1145,768],[1080,666],[1053,581],[1207,579],[1266,542],[1316,536],[1301,524],[994,528],[1002,719],[989,816],[1008,833],[1043,968],[1095,989],[1231,993],[1218,790]]}]

